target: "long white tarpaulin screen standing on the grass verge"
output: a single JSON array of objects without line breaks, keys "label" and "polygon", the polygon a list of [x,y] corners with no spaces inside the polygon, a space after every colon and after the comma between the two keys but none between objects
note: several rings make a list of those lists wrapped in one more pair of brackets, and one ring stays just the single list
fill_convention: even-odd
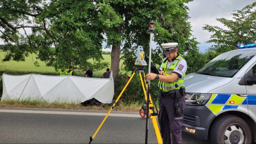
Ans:
[{"label": "long white tarpaulin screen standing on the grass verge", "polygon": [[46,76],[38,74],[3,74],[2,100],[46,100],[48,102],[84,102],[92,98],[101,103],[111,103],[114,80],[78,76]]}]

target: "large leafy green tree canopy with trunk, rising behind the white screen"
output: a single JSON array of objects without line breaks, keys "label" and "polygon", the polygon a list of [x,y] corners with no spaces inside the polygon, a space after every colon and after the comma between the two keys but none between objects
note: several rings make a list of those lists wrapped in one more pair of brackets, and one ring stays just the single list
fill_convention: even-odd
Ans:
[{"label": "large leafy green tree canopy with trunk, rising behind the white screen", "polygon": [[[106,41],[106,47],[112,45],[113,48],[111,69],[115,79],[122,43],[126,70],[134,68],[134,45],[144,47],[148,61],[150,21],[155,22],[154,41],[158,45],[178,42],[181,54],[197,49],[198,42],[191,38],[191,26],[187,21],[185,4],[190,1],[2,0],[0,37],[10,50],[3,60],[23,61],[29,53],[35,53],[37,59],[55,70],[62,66],[79,70],[88,66],[106,68],[107,64],[101,63],[102,42]],[[25,28],[32,28],[32,34],[27,34]],[[152,52],[152,61],[160,65],[162,58],[158,47]],[[35,65],[39,66],[36,62]]]}]

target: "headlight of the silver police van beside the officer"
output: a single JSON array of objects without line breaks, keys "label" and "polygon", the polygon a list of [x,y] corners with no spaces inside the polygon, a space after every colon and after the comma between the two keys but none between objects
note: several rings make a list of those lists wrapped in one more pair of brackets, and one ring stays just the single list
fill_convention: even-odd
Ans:
[{"label": "headlight of the silver police van beside the officer", "polygon": [[186,105],[203,106],[211,96],[209,93],[185,93]]}]

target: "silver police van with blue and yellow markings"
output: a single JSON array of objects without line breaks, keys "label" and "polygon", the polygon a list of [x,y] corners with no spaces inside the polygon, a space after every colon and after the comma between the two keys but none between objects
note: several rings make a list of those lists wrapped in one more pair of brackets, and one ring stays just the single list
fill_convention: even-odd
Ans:
[{"label": "silver police van with blue and yellow markings", "polygon": [[212,143],[256,142],[256,44],[238,48],[185,76],[183,132]]}]

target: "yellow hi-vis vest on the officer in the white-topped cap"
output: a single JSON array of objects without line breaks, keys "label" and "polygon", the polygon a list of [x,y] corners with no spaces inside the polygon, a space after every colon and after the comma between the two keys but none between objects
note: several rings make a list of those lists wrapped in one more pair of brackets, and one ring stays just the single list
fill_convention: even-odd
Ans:
[{"label": "yellow hi-vis vest on the officer in the white-topped cap", "polygon": [[[171,64],[171,66],[169,68],[167,67],[167,63],[168,60],[166,60],[163,63],[163,70],[165,73],[165,76],[171,76],[172,75],[172,71],[176,68],[178,62],[180,60],[184,60],[181,56],[178,56]],[[172,90],[178,90],[180,89],[180,87],[184,87],[184,77],[185,77],[185,73],[182,75],[181,78],[176,79],[174,82],[172,83],[165,83],[162,81],[158,82],[158,87],[160,88],[160,90],[164,91],[164,92],[168,92],[168,91],[172,91]]]}]

